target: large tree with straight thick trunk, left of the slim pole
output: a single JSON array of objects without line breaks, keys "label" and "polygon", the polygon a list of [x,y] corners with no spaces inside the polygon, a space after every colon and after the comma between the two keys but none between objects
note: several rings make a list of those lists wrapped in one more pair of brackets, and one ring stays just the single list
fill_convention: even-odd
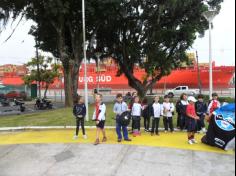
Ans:
[{"label": "large tree with straight thick trunk, left of the slim pole", "polygon": [[[92,0],[88,1],[87,5],[93,5],[92,2]],[[35,36],[37,47],[51,52],[61,60],[64,68],[66,106],[71,106],[72,97],[76,97],[79,68],[83,59],[81,5],[80,1],[74,0],[9,0],[0,4],[6,12],[14,12],[14,16],[22,14],[36,22],[30,34]],[[19,6],[17,10],[14,10],[15,6]],[[88,11],[94,11],[91,9],[89,8]],[[9,14],[5,13],[5,21],[7,17]],[[92,37],[95,23],[89,19],[91,15],[86,17],[88,19],[87,34],[88,37]]]}]

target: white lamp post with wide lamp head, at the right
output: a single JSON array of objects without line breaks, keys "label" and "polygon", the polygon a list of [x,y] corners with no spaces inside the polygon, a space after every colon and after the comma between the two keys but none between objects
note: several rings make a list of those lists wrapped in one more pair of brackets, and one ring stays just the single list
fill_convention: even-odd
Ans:
[{"label": "white lamp post with wide lamp head, at the right", "polygon": [[212,68],[212,22],[215,16],[217,15],[217,12],[215,10],[209,10],[203,13],[203,16],[207,19],[209,22],[209,97],[212,99],[212,93],[213,93],[213,68]]}]

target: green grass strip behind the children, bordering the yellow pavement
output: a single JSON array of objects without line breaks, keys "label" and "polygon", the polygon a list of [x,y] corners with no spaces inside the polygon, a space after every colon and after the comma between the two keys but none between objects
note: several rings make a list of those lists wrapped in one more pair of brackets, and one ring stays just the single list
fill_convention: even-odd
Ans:
[{"label": "green grass strip behind the children, bordering the yellow pavement", "polygon": [[[94,111],[94,106],[90,105],[89,118],[86,126],[94,126],[95,123],[91,120]],[[107,104],[107,126],[115,126],[113,113],[113,104]],[[174,125],[176,127],[177,117],[174,116]],[[0,127],[21,127],[21,126],[75,126],[75,118],[72,114],[71,108],[63,108],[47,112],[40,112],[34,114],[17,115],[17,116],[2,116],[0,117]],[[143,126],[143,120],[142,120]],[[163,127],[161,120],[160,127]],[[151,126],[150,126],[151,127]]]}]

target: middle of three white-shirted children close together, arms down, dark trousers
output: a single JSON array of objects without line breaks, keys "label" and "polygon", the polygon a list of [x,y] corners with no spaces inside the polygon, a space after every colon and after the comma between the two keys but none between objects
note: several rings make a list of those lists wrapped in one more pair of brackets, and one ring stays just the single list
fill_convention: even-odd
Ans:
[{"label": "middle of three white-shirted children close together, arms down, dark trousers", "polygon": [[159,123],[160,118],[162,116],[162,105],[159,103],[160,98],[157,96],[155,97],[155,102],[153,104],[153,119],[152,119],[152,131],[151,135],[154,135],[154,132],[156,135],[159,136]]}]

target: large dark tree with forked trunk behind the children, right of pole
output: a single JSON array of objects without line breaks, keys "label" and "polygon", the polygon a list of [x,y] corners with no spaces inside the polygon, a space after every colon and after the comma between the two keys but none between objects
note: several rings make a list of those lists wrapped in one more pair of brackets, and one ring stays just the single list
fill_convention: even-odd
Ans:
[{"label": "large dark tree with forked trunk behind the children, right of pole", "polygon": [[[220,9],[222,0],[148,0],[113,1],[104,15],[104,25],[97,31],[101,52],[112,56],[125,74],[129,85],[140,96],[171,70],[187,59],[197,33],[204,33],[208,22],[202,13],[207,3]],[[136,66],[146,76],[134,75]]]}]

